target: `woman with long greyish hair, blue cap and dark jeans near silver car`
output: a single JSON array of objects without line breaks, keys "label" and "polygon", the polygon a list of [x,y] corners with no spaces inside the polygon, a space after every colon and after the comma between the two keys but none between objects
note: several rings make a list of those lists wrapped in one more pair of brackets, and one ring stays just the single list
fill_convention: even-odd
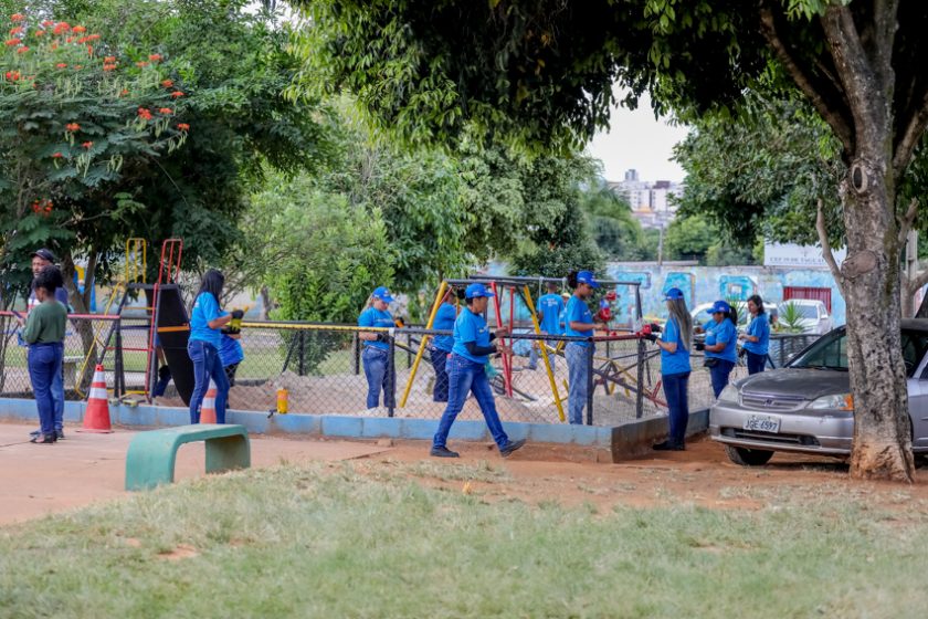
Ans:
[{"label": "woman with long greyish hair, blue cap and dark jeans near silver car", "polygon": [[693,339],[693,318],[686,308],[683,291],[669,288],[664,295],[669,317],[661,339],[648,339],[661,348],[661,381],[667,399],[669,433],[667,440],[654,445],[657,451],[683,451],[686,424],[689,421],[689,343]]}]

